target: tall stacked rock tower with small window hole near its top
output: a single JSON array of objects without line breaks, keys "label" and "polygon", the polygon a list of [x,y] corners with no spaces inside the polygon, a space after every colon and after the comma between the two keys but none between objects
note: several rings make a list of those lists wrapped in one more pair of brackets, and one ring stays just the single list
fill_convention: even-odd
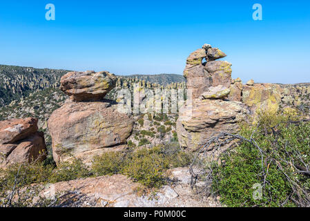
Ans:
[{"label": "tall stacked rock tower with small window hole near its top", "polygon": [[[190,109],[188,106],[180,109],[177,135],[180,145],[189,151],[196,151],[215,133],[235,133],[237,123],[249,113],[240,102],[240,82],[231,80],[231,64],[216,61],[222,57],[226,57],[224,52],[205,44],[186,61],[184,77],[187,88],[192,90],[193,102]],[[206,62],[202,63],[203,59]],[[231,86],[232,83],[235,85]],[[235,101],[225,99],[231,92]]]}]

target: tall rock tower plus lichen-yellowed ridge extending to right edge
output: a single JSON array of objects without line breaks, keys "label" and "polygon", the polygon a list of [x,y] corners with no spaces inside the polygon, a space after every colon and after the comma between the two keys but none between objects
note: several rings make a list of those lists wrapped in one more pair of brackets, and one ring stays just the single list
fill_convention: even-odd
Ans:
[{"label": "tall rock tower plus lichen-yellowed ridge extending to right edge", "polygon": [[222,57],[226,57],[224,52],[205,44],[186,60],[184,77],[192,90],[193,104],[192,109],[180,109],[177,121],[179,142],[184,148],[195,151],[217,132],[237,132],[237,123],[247,114],[255,117],[291,106],[309,110],[307,84],[255,84],[251,79],[244,85],[240,78],[231,79],[231,64],[217,61]]}]

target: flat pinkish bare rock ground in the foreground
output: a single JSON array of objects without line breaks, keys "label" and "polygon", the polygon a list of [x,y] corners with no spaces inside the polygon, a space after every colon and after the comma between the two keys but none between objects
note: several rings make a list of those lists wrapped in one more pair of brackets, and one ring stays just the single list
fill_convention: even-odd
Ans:
[{"label": "flat pinkish bare rock ground in the foreground", "polygon": [[46,186],[42,193],[61,195],[61,206],[74,207],[216,207],[213,198],[200,198],[191,189],[188,168],[168,171],[170,184],[145,193],[143,187],[124,175],[103,176],[59,182]]}]

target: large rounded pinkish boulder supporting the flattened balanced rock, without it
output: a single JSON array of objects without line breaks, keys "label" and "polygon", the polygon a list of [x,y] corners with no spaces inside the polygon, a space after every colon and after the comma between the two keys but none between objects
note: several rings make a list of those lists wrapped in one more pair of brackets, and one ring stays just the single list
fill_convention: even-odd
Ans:
[{"label": "large rounded pinkish boulder supporting the flattened balanced rock, without it", "polygon": [[95,155],[119,151],[133,130],[133,118],[119,113],[108,101],[72,102],[48,119],[55,162],[77,157],[89,164]]}]

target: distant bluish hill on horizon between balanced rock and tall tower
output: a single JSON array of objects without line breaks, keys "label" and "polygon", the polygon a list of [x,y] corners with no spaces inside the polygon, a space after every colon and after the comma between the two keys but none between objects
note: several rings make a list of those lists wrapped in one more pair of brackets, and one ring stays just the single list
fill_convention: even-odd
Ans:
[{"label": "distant bluish hill on horizon between balanced rock and tall tower", "polygon": [[171,83],[181,83],[185,81],[185,78],[182,75],[175,74],[160,74],[160,75],[128,75],[122,77],[137,77],[140,80],[149,81],[151,83],[161,84],[166,86]]}]

